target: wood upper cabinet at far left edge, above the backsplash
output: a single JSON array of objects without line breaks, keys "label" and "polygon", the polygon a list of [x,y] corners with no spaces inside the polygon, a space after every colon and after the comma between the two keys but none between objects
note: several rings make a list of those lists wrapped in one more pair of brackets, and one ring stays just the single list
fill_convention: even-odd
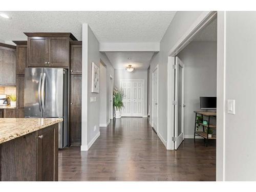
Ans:
[{"label": "wood upper cabinet at far left edge, above the backsplash", "polygon": [[16,85],[16,46],[0,44],[0,86]]}]

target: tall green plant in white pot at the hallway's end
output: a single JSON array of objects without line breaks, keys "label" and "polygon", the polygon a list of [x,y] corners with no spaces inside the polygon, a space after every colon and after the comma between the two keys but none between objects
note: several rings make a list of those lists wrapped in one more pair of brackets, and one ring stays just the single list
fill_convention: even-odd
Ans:
[{"label": "tall green plant in white pot at the hallway's end", "polygon": [[115,118],[119,119],[121,118],[121,110],[124,107],[123,105],[123,91],[122,89],[114,89],[113,93],[113,105],[115,109]]}]

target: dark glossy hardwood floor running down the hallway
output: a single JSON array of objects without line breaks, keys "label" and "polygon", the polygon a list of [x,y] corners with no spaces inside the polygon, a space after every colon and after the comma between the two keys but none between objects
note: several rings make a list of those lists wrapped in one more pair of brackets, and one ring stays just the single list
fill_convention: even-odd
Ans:
[{"label": "dark glossy hardwood floor running down the hallway", "polygon": [[59,151],[59,181],[215,181],[216,143],[185,139],[167,151],[147,118],[116,119],[100,127],[88,152]]}]

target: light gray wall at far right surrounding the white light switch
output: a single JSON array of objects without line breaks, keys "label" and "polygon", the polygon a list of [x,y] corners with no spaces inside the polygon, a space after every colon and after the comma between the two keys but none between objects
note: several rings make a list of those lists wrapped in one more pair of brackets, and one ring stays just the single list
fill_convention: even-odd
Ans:
[{"label": "light gray wall at far right surrounding the white light switch", "polygon": [[[256,181],[256,12],[226,13],[225,180]],[[218,155],[218,154],[217,154]]]}]

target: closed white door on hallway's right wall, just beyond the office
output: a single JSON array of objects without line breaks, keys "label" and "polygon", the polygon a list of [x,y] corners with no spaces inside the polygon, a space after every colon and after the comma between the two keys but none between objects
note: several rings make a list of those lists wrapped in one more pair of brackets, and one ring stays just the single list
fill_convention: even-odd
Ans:
[{"label": "closed white door on hallway's right wall, just beyond the office", "polygon": [[152,124],[158,133],[158,68],[153,71],[152,81]]}]

